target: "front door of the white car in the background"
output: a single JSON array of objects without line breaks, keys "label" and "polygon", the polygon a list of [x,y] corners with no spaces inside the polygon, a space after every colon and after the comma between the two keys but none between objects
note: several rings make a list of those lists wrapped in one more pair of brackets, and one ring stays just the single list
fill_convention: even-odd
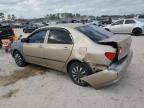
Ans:
[{"label": "front door of the white car in the background", "polygon": [[122,33],[122,27],[123,27],[124,20],[119,20],[110,26],[110,30],[112,33]]}]

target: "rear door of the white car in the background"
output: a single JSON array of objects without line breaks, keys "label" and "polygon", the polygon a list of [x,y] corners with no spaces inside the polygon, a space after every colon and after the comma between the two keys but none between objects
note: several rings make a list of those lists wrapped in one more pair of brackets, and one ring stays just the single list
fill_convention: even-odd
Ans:
[{"label": "rear door of the white car in the background", "polygon": [[131,19],[125,20],[125,22],[123,24],[123,33],[132,33],[132,29],[133,29],[135,23],[136,22]]}]

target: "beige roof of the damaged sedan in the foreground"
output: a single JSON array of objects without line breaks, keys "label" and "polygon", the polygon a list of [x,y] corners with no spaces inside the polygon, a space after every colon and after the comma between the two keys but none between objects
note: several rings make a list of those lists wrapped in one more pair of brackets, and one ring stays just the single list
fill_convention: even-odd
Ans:
[{"label": "beige roof of the damaged sedan in the foreground", "polygon": [[50,28],[50,27],[60,27],[60,28],[76,28],[76,27],[80,27],[83,26],[84,24],[82,23],[68,23],[68,24],[54,24],[54,25],[49,25],[46,27],[42,27],[42,28]]}]

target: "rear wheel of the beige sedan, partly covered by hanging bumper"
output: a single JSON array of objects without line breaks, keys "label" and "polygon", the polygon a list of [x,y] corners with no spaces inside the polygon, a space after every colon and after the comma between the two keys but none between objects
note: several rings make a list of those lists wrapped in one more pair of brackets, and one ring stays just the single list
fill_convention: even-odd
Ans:
[{"label": "rear wheel of the beige sedan, partly covered by hanging bumper", "polygon": [[80,62],[74,62],[70,65],[68,73],[72,81],[79,86],[88,86],[89,84],[85,81],[80,80],[84,76],[90,75],[91,71],[89,67]]}]

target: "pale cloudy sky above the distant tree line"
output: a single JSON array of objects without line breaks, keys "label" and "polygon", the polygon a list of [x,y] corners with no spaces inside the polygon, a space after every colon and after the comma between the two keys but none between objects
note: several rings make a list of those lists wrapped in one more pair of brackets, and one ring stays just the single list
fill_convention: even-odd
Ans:
[{"label": "pale cloudy sky above the distant tree line", "polygon": [[144,0],[0,0],[0,12],[21,18],[39,18],[50,13],[124,15],[144,13]]}]

